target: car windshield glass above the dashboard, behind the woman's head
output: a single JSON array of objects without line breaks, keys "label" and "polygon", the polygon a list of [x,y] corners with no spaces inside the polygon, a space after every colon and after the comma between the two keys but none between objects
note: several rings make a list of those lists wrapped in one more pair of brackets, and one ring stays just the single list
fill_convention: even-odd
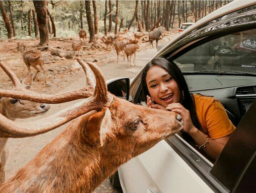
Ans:
[{"label": "car windshield glass above the dashboard, behind the woman's head", "polygon": [[174,62],[183,72],[256,75],[256,30],[211,40],[191,49]]}]

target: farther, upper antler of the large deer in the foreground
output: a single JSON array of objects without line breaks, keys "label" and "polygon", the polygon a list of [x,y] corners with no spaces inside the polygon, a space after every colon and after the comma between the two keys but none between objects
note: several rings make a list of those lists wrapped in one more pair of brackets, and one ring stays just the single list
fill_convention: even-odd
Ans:
[{"label": "farther, upper antler of the large deer in the foreground", "polygon": [[[86,63],[80,59],[77,59],[79,64],[84,69],[86,76],[86,87],[73,90],[71,92],[66,92],[62,94],[55,94],[55,95],[45,95],[45,94],[38,94],[35,92],[32,92],[30,90],[25,89],[22,87],[22,84],[20,83],[20,80],[17,78],[17,76],[14,74],[14,72],[11,71],[8,67],[6,67],[2,62],[0,62],[0,67],[5,71],[5,73],[10,77],[12,80],[15,88],[12,90],[1,90],[0,89],[0,96],[1,97],[11,97],[11,98],[19,98],[23,100],[30,100],[38,103],[65,103],[72,100],[77,99],[83,99],[90,97],[95,88],[95,79],[93,77],[92,73],[86,73],[86,69],[89,69],[89,72],[91,72],[90,68],[86,66]],[[91,74],[91,75],[89,75]]]}]

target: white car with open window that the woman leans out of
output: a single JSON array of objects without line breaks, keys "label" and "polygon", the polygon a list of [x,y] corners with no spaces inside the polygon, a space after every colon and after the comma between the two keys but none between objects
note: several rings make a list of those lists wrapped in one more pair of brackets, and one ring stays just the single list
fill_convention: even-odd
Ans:
[{"label": "white car with open window that the woman leans out of", "polygon": [[[237,128],[215,162],[176,134],[121,165],[110,177],[112,185],[124,193],[256,192],[256,1],[232,1],[212,12],[159,56],[181,68],[191,93],[218,99]],[[216,62],[221,68],[214,68]],[[121,80],[120,95],[109,91],[146,105],[141,72],[130,91]],[[111,82],[112,89],[118,81]]]}]

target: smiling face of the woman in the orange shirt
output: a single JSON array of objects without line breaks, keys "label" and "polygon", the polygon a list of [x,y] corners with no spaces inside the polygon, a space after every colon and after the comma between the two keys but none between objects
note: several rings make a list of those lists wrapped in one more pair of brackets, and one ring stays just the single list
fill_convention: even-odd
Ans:
[{"label": "smiling face of the woman in the orange shirt", "polygon": [[147,88],[151,99],[164,106],[171,103],[179,103],[180,91],[177,82],[171,75],[159,66],[153,66],[147,71]]}]

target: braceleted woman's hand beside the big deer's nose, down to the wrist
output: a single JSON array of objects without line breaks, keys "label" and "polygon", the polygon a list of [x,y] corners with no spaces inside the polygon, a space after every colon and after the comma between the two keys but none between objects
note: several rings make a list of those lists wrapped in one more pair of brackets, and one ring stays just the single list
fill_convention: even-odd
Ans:
[{"label": "braceleted woman's hand beside the big deer's nose, down to the wrist", "polygon": [[197,130],[196,127],[193,125],[193,122],[190,117],[190,112],[187,110],[184,106],[182,106],[180,103],[171,103],[166,107],[167,110],[171,110],[175,113],[178,113],[182,116],[183,120],[183,129],[188,134],[191,132]]}]

